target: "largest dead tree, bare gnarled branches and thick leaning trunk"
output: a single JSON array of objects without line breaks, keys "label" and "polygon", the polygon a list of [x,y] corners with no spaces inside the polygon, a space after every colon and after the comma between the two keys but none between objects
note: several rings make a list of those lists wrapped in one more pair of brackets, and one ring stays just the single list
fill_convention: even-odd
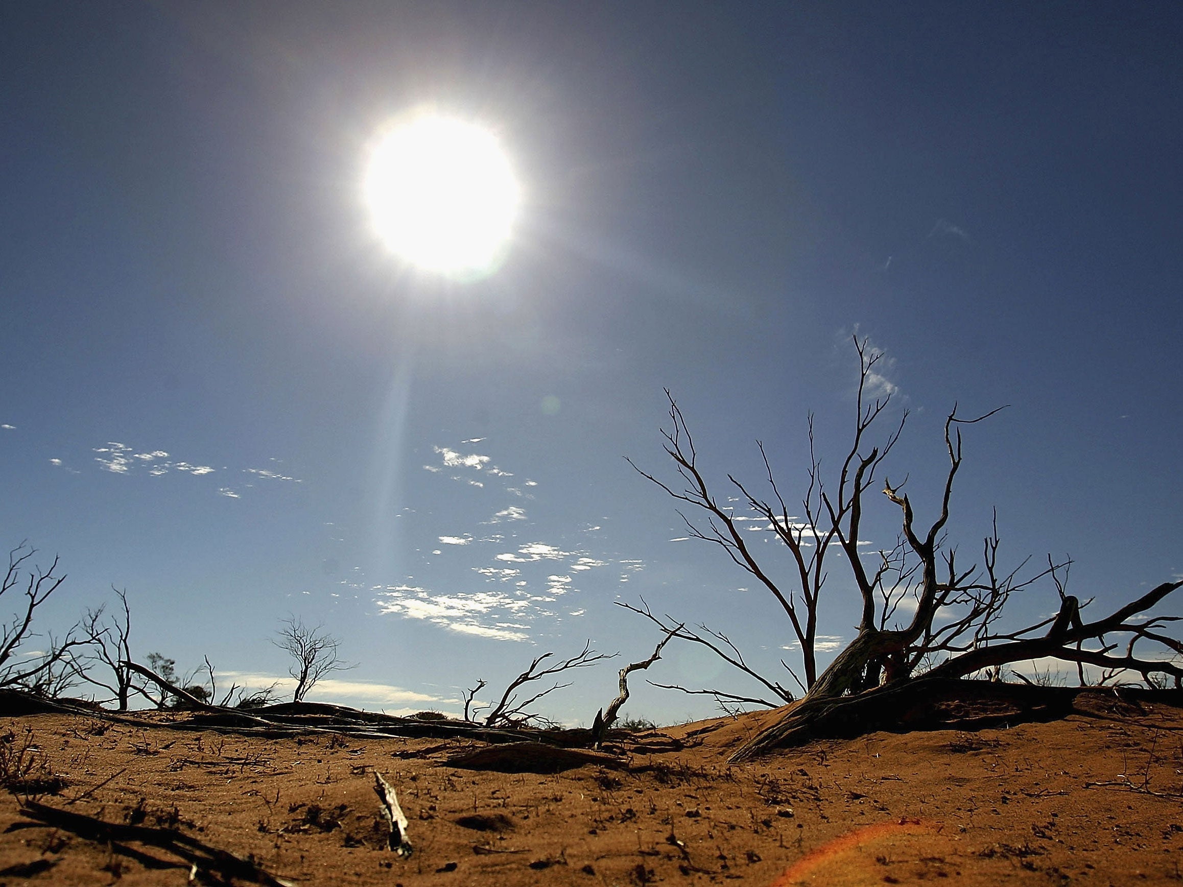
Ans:
[{"label": "largest dead tree, bare gnarled branches and thick leaning trunk", "polygon": [[[1065,591],[1067,562],[1049,561],[1047,569],[1026,578],[1020,577],[1026,562],[1004,572],[997,565],[1000,542],[995,530],[984,540],[981,565],[963,568],[958,564],[957,550],[946,543],[944,533],[953,480],[962,465],[962,427],[981,422],[998,410],[964,419],[955,407],[944,426],[949,465],[939,506],[931,523],[922,529],[907,493],[903,492],[904,485],[893,487],[885,479],[881,492],[901,512],[900,537],[891,550],[867,555],[859,550],[865,494],[873,488],[884,458],[899,439],[906,415],[887,434],[883,446],[874,447],[866,442],[867,433],[883,414],[890,395],[875,399],[873,403],[865,402],[865,394],[874,380],[873,367],[879,355],[867,347],[865,339],[855,339],[854,344],[860,358],[854,442],[841,465],[833,496],[820,478],[820,461],[813,449],[812,419],[812,467],[802,500],[804,520],[796,522],[789,516],[762,446],[761,454],[764,457],[775,507],[728,475],[750,512],[758,519],[767,520],[765,529],[774,532],[789,549],[796,566],[793,591],[784,593],[757,562],[739,527],[744,516],[736,516],[729,509],[719,506],[710,492],[697,466],[693,441],[672,397],[670,415],[673,427],[672,430],[662,432],[662,435],[666,453],[674,460],[685,488],[679,491],[652,474],[641,472],[673,498],[706,512],[706,523],[702,526],[683,516],[691,535],[719,545],[736,564],[755,576],[781,603],[801,643],[808,692],[777,724],[742,746],[732,756],[732,760],[748,759],[772,747],[810,738],[812,725],[827,717],[839,700],[846,700],[841,701],[841,707],[848,712],[860,697],[870,699],[880,687],[899,686],[922,678],[962,678],[1009,662],[1043,656],[1078,663],[1081,668],[1087,663],[1121,669],[1126,674],[1142,675],[1150,685],[1161,682],[1159,675],[1164,675],[1174,679],[1176,686],[1183,686],[1183,666],[1177,659],[1183,654],[1183,643],[1165,633],[1169,624],[1179,617],[1145,616],[1171,591],[1183,585],[1183,582],[1164,583],[1111,615],[1086,623],[1080,611],[1087,602],[1081,603]],[[804,548],[812,549],[808,556]],[[845,556],[843,562],[861,603],[861,619],[854,640],[821,674],[814,676],[817,600],[826,578],[826,552],[832,548]],[[1019,630],[1003,630],[1000,620],[1010,595],[1046,577],[1053,580],[1060,597],[1056,616]],[[910,619],[900,621],[899,604],[907,597],[912,598],[914,611]],[[648,608],[629,609],[664,624],[647,611]],[[720,637],[717,633],[711,634]],[[1113,640],[1114,635],[1120,640]],[[703,642],[702,636],[687,640]],[[729,641],[726,646],[733,650]],[[1136,646],[1139,650],[1148,646],[1157,647],[1159,655],[1138,655]],[[1162,653],[1166,655],[1163,656]],[[736,656],[724,659],[732,665],[742,661]],[[752,674],[748,668],[743,671]],[[759,680],[765,686],[776,686],[772,681]]]}]

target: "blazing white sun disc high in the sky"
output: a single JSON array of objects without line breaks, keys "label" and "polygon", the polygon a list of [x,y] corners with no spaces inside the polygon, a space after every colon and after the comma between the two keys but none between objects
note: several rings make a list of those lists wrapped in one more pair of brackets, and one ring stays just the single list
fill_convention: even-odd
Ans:
[{"label": "blazing white sun disc high in the sky", "polygon": [[377,141],[366,201],[379,235],[403,259],[472,279],[494,271],[504,257],[521,194],[492,134],[421,116]]}]

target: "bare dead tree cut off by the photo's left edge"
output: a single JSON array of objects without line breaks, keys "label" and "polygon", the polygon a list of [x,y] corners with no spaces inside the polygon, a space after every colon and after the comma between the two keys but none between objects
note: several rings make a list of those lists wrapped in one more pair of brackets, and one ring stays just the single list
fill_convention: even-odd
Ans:
[{"label": "bare dead tree cut off by the photo's left edge", "polygon": [[[0,582],[0,598],[22,590],[25,600],[17,604],[17,613],[0,626],[0,687],[19,687],[40,695],[57,695],[71,684],[70,658],[78,647],[86,643],[77,636],[77,626],[72,627],[62,641],[49,637],[45,652],[35,660],[20,659],[21,645],[37,635],[32,632],[33,616],[37,608],[65,582],[65,576],[58,576],[58,558],[49,569],[26,566],[26,562],[37,553],[37,549],[21,543],[8,552],[8,569]],[[27,572],[25,572],[27,570]]]}]

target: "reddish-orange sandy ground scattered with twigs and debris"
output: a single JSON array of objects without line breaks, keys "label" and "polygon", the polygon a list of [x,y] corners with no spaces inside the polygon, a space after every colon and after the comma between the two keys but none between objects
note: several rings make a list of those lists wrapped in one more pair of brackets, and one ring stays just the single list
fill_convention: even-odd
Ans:
[{"label": "reddish-orange sandy ground scattered with twigs and debris", "polygon": [[[1078,708],[728,765],[762,713],[639,733],[625,765],[554,773],[505,772],[521,756],[500,770],[447,763],[484,747],[472,742],[259,739],[60,714],[0,718],[0,745],[11,758],[31,744],[64,778],[34,784],[44,804],[174,828],[297,883],[1183,881],[1183,711],[1100,693]],[[386,846],[374,771],[409,820],[407,859]],[[0,797],[0,885],[224,882],[163,849],[28,822],[18,796]]]}]

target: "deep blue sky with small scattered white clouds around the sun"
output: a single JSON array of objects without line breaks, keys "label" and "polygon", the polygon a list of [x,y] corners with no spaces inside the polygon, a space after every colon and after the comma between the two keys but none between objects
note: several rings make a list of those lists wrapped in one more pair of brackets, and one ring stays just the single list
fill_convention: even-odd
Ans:
[{"label": "deep blue sky with small scattered white clouds around the sun", "polygon": [[[945,413],[1011,404],[967,436],[951,538],[996,506],[1013,562],[1119,602],[1183,572],[1181,37],[1171,4],[6,4],[0,539],[62,556],[54,627],[114,583],[182,668],[278,675],[278,620],[323,622],[357,663],[332,701],[644,658],[613,606],[641,596],[775,673],[775,602],[671,542],[622,457],[668,468],[668,387],[712,478],[758,478],[761,439],[796,490],[809,410],[846,444],[858,331],[922,514]],[[474,283],[363,206],[367,145],[424,104],[522,183]],[[651,676],[750,688],[674,646]],[[711,712],[635,684],[634,714]]]}]

